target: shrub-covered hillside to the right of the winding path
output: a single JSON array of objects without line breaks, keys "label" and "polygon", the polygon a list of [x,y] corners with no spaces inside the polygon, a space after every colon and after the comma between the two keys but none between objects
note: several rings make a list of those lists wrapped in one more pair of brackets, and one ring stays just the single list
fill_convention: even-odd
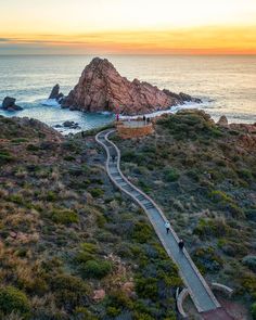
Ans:
[{"label": "shrub-covered hillside to the right of the winding path", "polygon": [[159,119],[150,137],[114,140],[124,172],[164,209],[203,274],[233,287],[252,306],[255,133],[221,128],[205,113],[187,111]]}]

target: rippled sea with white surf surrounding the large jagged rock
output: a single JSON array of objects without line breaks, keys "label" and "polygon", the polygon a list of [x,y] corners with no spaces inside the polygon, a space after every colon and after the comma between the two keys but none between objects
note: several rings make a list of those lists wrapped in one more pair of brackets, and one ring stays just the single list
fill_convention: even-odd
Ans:
[{"label": "rippled sea with white surf surrounding the large jagged rock", "polygon": [[[105,125],[110,114],[90,114],[42,105],[52,87],[60,84],[67,94],[93,56],[90,55],[0,55],[0,104],[4,97],[16,98],[23,111],[4,116],[27,116],[50,126],[65,120],[78,123],[82,130]],[[103,57],[103,56],[101,56]],[[231,123],[256,123],[255,55],[106,55],[129,80],[138,78],[161,89],[185,92],[202,104],[175,107],[205,110],[214,119],[226,115]],[[59,129],[63,133],[76,130]]]}]

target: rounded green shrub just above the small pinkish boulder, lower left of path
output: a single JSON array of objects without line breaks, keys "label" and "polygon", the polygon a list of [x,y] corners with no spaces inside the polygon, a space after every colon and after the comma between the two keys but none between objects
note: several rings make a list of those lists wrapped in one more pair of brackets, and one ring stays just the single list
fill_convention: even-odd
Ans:
[{"label": "rounded green shrub just above the small pinkish boulder, lower left of path", "polygon": [[112,271],[112,263],[106,260],[88,260],[80,265],[79,270],[84,278],[102,279]]}]

